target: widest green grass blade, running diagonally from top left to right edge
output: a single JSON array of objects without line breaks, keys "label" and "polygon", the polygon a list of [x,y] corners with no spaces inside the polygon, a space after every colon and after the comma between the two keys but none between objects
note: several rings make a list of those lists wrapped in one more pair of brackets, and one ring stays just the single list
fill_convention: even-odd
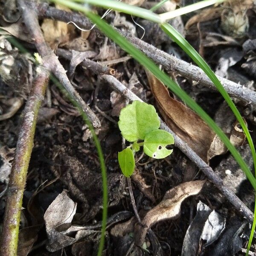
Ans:
[{"label": "widest green grass blade, running diagonally from top left to right edge", "polygon": [[[54,2],[59,2],[60,0],[54,0]],[[218,125],[215,124],[215,122],[210,118],[210,116],[207,115],[207,113],[193,100],[189,95],[186,94],[184,90],[178,87],[178,85],[172,81],[169,76],[166,75],[163,71],[159,70],[157,65],[154,64],[151,59],[149,59],[147,56],[145,56],[140,50],[135,48],[130,42],[126,40],[122,35],[120,35],[118,32],[116,32],[108,23],[106,23],[104,20],[101,20],[98,15],[93,14],[92,12],[88,11],[87,8],[84,8],[83,6],[79,4],[75,4],[73,2],[62,0],[62,4],[67,5],[70,8],[73,8],[77,11],[84,12],[84,14],[93,22],[95,23],[99,29],[102,30],[102,32],[105,33],[109,38],[111,38],[116,44],[119,44],[122,49],[124,49],[126,52],[131,54],[137,61],[140,62],[144,67],[146,67],[148,70],[151,71],[151,73],[154,74],[160,81],[162,81],[164,84],[166,84],[180,99],[182,99],[186,104],[192,108],[195,112],[201,116],[202,119],[215,131],[216,134],[221,138],[221,140],[224,142],[224,144],[227,146],[227,148],[230,150],[230,152],[233,154],[236,161],[241,166],[241,169],[246,174],[248,180],[250,180],[252,186],[254,189],[256,189],[256,180],[253,177],[252,173],[250,172],[248,166],[240,156],[239,152],[236,150],[236,148],[230,143],[230,140],[227,138],[227,136],[221,131],[221,128],[218,127]]]}]

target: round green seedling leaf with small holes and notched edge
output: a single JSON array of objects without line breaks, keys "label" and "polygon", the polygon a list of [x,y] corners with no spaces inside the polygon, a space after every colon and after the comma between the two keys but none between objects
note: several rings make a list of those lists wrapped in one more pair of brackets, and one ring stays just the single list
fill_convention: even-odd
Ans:
[{"label": "round green seedling leaf with small holes and notched edge", "polygon": [[172,149],[167,149],[166,146],[173,143],[172,134],[164,130],[154,130],[146,135],[143,150],[149,157],[160,159],[172,154]]}]

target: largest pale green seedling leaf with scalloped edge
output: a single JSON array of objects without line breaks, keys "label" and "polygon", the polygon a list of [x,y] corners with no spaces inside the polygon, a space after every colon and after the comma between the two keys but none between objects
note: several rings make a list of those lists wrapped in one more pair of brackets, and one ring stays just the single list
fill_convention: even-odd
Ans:
[{"label": "largest pale green seedling leaf with scalloped edge", "polygon": [[154,106],[136,100],[121,110],[118,125],[125,140],[134,142],[158,129],[160,120]]}]

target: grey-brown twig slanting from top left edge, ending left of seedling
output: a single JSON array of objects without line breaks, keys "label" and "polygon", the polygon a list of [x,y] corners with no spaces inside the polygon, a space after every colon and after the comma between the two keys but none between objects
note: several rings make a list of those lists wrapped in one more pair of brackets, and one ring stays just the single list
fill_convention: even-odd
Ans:
[{"label": "grey-brown twig slanting from top left edge, ending left of seedling", "polygon": [[22,13],[23,21],[29,30],[31,37],[35,41],[35,46],[42,57],[47,56],[48,67],[50,71],[59,79],[61,84],[65,87],[67,92],[73,97],[73,99],[79,104],[82,110],[87,114],[88,119],[93,124],[94,127],[100,127],[101,123],[98,117],[93,113],[90,107],[84,102],[79,93],[73,88],[70,83],[66,71],[61,63],[58,61],[57,56],[54,52],[47,46],[43,33],[38,23],[37,14],[34,9],[32,9],[32,3],[34,1],[29,1],[25,3],[24,0],[18,0],[19,8]]}]

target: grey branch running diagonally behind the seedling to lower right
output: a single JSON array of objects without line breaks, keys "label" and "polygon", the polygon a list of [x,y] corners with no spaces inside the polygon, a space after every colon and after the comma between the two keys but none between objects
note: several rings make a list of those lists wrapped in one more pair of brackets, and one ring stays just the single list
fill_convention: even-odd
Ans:
[{"label": "grey branch running diagonally behind the seedling to lower right", "polygon": [[[61,55],[61,57],[70,60],[71,56],[67,50],[59,49],[57,52]],[[83,65],[83,62],[81,62],[81,64]],[[102,67],[101,64],[90,60],[86,60],[86,64],[87,65],[84,67],[99,75],[99,78],[110,84],[113,89],[119,91],[119,93],[128,98],[130,101],[139,100],[140,102],[143,102],[138,96],[136,96],[131,90],[125,87],[125,85],[123,85],[115,77],[106,74],[104,72],[105,69],[104,67]],[[103,72],[100,72],[99,70],[102,70]],[[192,148],[189,147],[189,145],[181,140],[180,137],[178,137],[163,122],[163,120],[160,120],[160,128],[168,131],[173,135],[175,139],[175,146],[179,148],[193,163],[195,163],[202,172],[204,172],[209,181],[211,181],[222,192],[222,194],[227,198],[228,201],[230,201],[231,204],[233,204],[233,206],[241,213],[241,215],[247,218],[249,222],[253,222],[253,212],[251,212],[250,209],[233,192],[231,192],[226,186],[224,186],[221,178],[215,174],[212,168],[208,166],[207,163],[205,163],[204,160],[202,160],[201,157],[199,157],[195,153],[195,151],[193,151]]]}]

